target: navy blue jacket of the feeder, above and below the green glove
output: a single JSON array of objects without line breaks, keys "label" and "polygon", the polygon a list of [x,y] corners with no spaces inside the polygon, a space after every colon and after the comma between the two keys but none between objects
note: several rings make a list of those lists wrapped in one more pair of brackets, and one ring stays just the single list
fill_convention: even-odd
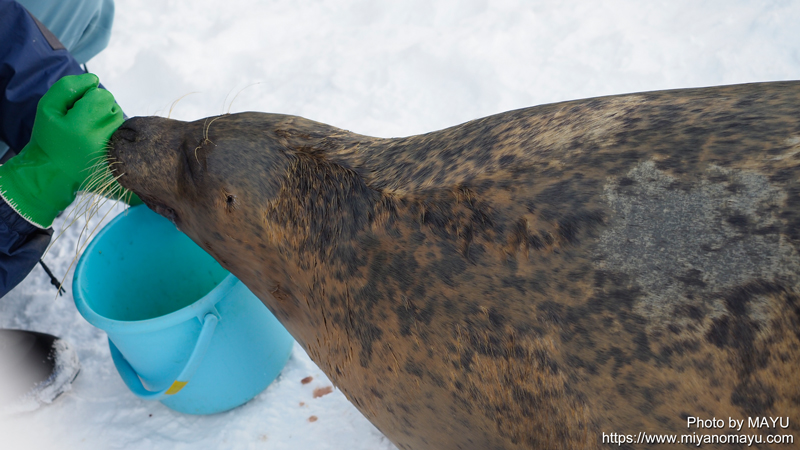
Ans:
[{"label": "navy blue jacket of the feeder, above and below the green glove", "polygon": [[[19,3],[0,0],[0,140],[15,153],[28,143],[36,105],[80,65],[47,28]],[[52,235],[27,223],[0,199],[0,297],[14,288],[41,258]]]}]

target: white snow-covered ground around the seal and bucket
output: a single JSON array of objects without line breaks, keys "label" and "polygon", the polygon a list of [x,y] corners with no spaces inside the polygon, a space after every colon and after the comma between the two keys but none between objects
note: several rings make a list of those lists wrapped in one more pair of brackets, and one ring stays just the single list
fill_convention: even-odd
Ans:
[{"label": "white snow-covered ground around the seal and bucket", "polygon": [[[777,0],[118,0],[89,69],[131,116],[166,116],[183,97],[173,118],[256,110],[391,137],[561,100],[800,79],[798,23],[800,2]],[[80,228],[45,258],[58,275]],[[297,346],[233,411],[141,401],[77,313],[71,272],[66,285],[54,298],[37,268],[0,300],[0,327],[59,335],[83,364],[52,405],[0,418],[4,449],[393,448],[339,391],[313,398],[330,382]]]}]

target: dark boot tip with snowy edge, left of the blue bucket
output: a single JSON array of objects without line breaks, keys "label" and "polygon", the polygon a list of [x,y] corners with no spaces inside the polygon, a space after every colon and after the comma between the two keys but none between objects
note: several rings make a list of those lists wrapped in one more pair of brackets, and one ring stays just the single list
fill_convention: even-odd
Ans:
[{"label": "dark boot tip with snowy edge, left of the blue bucket", "polygon": [[0,413],[32,411],[72,387],[75,351],[49,334],[0,329]]}]

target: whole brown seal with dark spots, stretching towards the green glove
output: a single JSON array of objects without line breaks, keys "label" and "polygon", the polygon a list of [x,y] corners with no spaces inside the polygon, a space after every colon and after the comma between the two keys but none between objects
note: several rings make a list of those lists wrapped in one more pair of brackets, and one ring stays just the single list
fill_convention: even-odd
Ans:
[{"label": "whole brown seal with dark spots, stretching towards the green glove", "polygon": [[109,161],[401,449],[797,448],[800,82],[397,139],[132,118]]}]

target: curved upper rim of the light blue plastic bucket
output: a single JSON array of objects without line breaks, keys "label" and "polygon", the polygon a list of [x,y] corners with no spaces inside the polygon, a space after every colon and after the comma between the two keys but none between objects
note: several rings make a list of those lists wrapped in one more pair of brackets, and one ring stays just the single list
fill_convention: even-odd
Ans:
[{"label": "curved upper rim of the light blue plastic bucket", "polygon": [[[144,210],[142,211],[140,208],[144,208]],[[87,292],[86,284],[88,283],[85,276],[86,261],[88,260],[87,255],[91,255],[94,252],[96,245],[103,240],[103,237],[111,229],[113,229],[115,226],[118,226],[119,222],[128,219],[132,214],[141,215],[147,213],[156,214],[155,212],[150,211],[150,209],[148,209],[145,205],[129,208],[128,210],[118,214],[108,223],[108,225],[103,227],[103,229],[94,236],[92,241],[84,250],[83,254],[78,260],[77,266],[75,267],[75,275],[72,280],[72,295],[75,300],[75,306],[78,308],[78,312],[80,312],[87,322],[106,332],[111,331],[119,334],[148,333],[170,328],[193,318],[197,318],[202,322],[202,318],[207,313],[212,312],[214,306],[228,295],[236,283],[239,283],[238,278],[236,278],[232,273],[228,273],[228,275],[226,275],[225,278],[223,278],[222,281],[217,284],[217,286],[215,286],[211,291],[194,303],[184,306],[183,308],[171,313],[164,314],[163,316],[154,317],[151,319],[117,320],[97,313],[89,305],[89,302],[86,298],[87,295],[85,295]],[[161,216],[158,217],[161,218]]]}]

